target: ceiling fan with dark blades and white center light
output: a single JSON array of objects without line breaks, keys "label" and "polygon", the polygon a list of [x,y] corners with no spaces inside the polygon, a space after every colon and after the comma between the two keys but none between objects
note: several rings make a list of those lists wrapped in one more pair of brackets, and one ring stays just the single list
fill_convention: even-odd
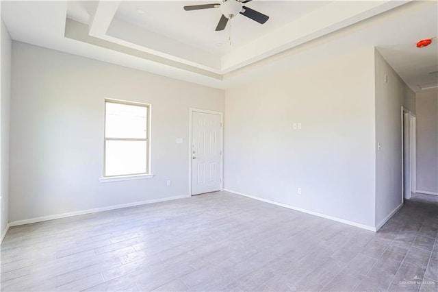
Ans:
[{"label": "ceiling fan with dark blades and white center light", "polygon": [[252,10],[244,6],[242,3],[248,3],[252,0],[222,0],[222,3],[216,4],[203,4],[203,5],[190,5],[184,6],[185,11],[192,10],[201,10],[201,9],[209,9],[209,8],[220,8],[220,12],[222,12],[222,16],[220,17],[218,26],[216,27],[216,32],[220,30],[224,30],[227,26],[228,20],[232,19],[238,13],[248,17],[248,19],[253,19],[253,21],[257,21],[258,23],[266,23],[268,21],[269,16],[260,13],[258,11]]}]

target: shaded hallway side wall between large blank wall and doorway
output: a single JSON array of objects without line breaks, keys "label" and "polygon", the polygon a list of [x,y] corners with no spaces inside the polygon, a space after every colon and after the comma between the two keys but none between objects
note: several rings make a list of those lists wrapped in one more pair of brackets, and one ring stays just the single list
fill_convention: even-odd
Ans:
[{"label": "shaded hallway side wall between large blank wall and doorway", "polygon": [[[415,110],[413,91],[376,51],[376,224],[402,204],[401,107]],[[387,75],[387,82],[385,82]]]}]

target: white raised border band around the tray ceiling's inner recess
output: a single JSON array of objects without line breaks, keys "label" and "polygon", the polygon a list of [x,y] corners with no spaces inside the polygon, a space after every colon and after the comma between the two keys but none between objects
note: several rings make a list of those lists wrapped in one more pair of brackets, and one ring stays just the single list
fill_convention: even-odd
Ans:
[{"label": "white raised border band around the tray ceiling's inner recess", "polygon": [[[208,53],[203,52],[193,53],[190,49],[185,49],[185,47],[188,47],[187,45],[171,45],[172,40],[166,40],[164,37],[155,37],[155,41],[152,44],[148,38],[136,33],[136,29],[132,28],[133,25],[129,25],[131,29],[128,30],[125,27],[126,32],[129,32],[132,36],[126,32],[123,35],[120,35],[120,33],[115,34],[114,32],[120,31],[120,29],[117,30],[116,25],[112,25],[112,23],[116,21],[114,16],[120,1],[99,1],[96,12],[91,18],[90,36],[140,49],[176,62],[189,64],[190,66],[197,66],[203,70],[225,74],[273,56],[281,51],[301,45],[309,40],[335,32],[337,29],[396,8],[407,2],[409,0],[352,1],[352,3],[348,1],[333,1],[300,17],[296,21],[275,29],[265,36],[261,36],[242,47],[231,50],[222,57],[207,56]],[[120,24],[120,21],[118,23]],[[111,27],[113,28],[110,34]],[[144,31],[144,34],[147,34],[147,32]],[[136,42],[134,39],[138,39],[141,43]],[[153,47],[156,48],[154,49]]]}]

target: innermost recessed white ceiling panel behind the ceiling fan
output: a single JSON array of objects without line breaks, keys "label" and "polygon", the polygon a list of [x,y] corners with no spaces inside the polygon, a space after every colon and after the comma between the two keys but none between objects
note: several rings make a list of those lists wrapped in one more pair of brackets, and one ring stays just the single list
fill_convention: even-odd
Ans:
[{"label": "innermost recessed white ceiling panel behind the ceiling fan", "polygon": [[[292,19],[308,14],[331,1],[252,1],[249,8],[270,17],[264,25],[238,15],[222,32],[215,32],[220,16],[219,9],[185,11],[185,5],[220,3],[219,1],[123,1],[118,6],[115,19],[126,21],[168,38],[178,40],[215,53],[218,56],[266,35]],[[139,14],[138,9],[144,11]],[[231,26],[229,25],[231,23]],[[231,27],[232,45],[229,45]],[[220,47],[218,46],[220,44]]]}]

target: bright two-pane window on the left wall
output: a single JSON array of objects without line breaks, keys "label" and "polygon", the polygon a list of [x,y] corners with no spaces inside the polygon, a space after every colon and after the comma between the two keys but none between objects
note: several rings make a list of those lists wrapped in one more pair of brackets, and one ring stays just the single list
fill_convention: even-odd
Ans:
[{"label": "bright two-pane window on the left wall", "polygon": [[105,178],[149,173],[149,106],[105,100]]}]

